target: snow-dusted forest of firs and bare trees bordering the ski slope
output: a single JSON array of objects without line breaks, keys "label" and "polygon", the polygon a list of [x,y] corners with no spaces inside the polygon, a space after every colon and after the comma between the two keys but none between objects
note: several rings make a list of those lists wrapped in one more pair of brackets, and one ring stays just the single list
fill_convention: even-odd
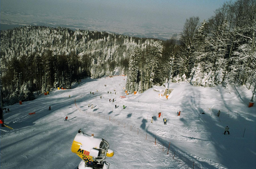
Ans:
[{"label": "snow-dusted forest of firs and bare trees bordering the ski slope", "polygon": [[[181,21],[183,22],[183,21]],[[24,26],[1,31],[4,104],[34,99],[51,88],[71,88],[84,77],[127,74],[128,92],[167,82],[224,87],[256,75],[256,1],[228,2],[200,23],[190,17],[169,40],[63,27]]]}]

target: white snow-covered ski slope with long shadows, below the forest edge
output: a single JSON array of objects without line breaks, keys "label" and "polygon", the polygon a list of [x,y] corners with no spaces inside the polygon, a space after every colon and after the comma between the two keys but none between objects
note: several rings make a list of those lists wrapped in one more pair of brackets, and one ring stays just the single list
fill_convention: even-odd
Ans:
[{"label": "white snow-covered ski slope with long shadows, below the forest edge", "polygon": [[[71,144],[80,128],[108,141],[115,151],[106,158],[111,169],[193,168],[193,162],[196,169],[256,168],[256,106],[248,108],[252,90],[177,83],[170,84],[174,90],[166,100],[153,88],[125,95],[125,82],[124,76],[87,78],[70,90],[8,106],[4,122],[13,130],[0,128],[1,169],[75,169],[81,159]],[[214,115],[218,110],[220,119]],[[230,135],[222,134],[226,126]]]}]

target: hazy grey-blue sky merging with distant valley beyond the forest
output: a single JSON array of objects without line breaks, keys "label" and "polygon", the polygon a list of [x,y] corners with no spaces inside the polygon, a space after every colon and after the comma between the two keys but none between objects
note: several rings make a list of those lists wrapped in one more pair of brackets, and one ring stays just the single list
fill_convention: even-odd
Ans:
[{"label": "hazy grey-blue sky merging with distant valley beyond the forest", "polygon": [[[210,18],[227,0],[1,0],[1,24],[171,36],[186,18]],[[1,28],[3,29],[3,28]],[[154,35],[153,35],[154,34]]]}]

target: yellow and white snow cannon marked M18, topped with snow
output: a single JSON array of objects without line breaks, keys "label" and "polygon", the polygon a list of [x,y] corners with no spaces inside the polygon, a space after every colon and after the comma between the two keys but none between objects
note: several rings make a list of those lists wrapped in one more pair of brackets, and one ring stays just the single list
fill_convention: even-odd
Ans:
[{"label": "yellow and white snow cannon marked M18, topped with snow", "polygon": [[109,163],[103,160],[106,156],[112,157],[114,155],[114,151],[109,149],[106,140],[94,137],[93,134],[91,136],[84,134],[81,129],[78,130],[74,138],[71,151],[82,158],[77,169],[108,169]]}]

